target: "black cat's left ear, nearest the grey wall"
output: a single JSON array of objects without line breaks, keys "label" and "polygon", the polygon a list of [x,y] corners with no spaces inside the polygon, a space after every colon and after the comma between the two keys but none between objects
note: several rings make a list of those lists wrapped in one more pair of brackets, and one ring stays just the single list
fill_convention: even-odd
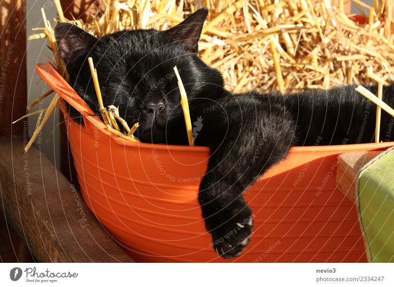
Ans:
[{"label": "black cat's left ear, nearest the grey wall", "polygon": [[55,28],[59,53],[67,64],[80,55],[87,55],[98,38],[71,23],[60,23]]}]

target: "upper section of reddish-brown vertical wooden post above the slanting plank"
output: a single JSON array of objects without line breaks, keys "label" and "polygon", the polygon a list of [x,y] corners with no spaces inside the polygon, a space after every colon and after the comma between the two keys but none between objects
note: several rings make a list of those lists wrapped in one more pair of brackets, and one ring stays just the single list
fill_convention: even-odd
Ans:
[{"label": "upper section of reddish-brown vertical wooden post above the slanting plank", "polygon": [[21,135],[26,114],[26,0],[0,1],[0,135]]}]

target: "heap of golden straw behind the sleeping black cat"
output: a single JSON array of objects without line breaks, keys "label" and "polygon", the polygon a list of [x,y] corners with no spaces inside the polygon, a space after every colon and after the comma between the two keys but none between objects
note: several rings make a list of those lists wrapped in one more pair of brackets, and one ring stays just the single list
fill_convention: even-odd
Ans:
[{"label": "heap of golden straw behind the sleeping black cat", "polygon": [[[294,92],[363,83],[368,78],[367,67],[382,80],[393,82],[394,67],[389,65],[394,63],[389,9],[392,1],[367,5],[352,0],[362,14],[369,13],[365,24],[354,23],[344,14],[346,2],[338,1],[335,6],[328,0],[313,1],[313,5],[311,0],[204,1],[209,15],[202,29],[199,54],[206,64],[224,72],[226,88],[231,91],[236,87],[244,91]],[[57,9],[59,19],[99,37],[128,29],[168,29],[196,10],[194,0],[103,0],[103,3],[105,9],[100,17],[88,17],[85,22],[67,20]],[[386,17],[384,26],[380,23],[382,14]],[[269,39],[275,42],[275,55],[273,44],[264,40],[267,36],[272,36]],[[275,69],[270,59],[274,59]],[[340,63],[337,59],[341,59]],[[248,80],[239,85],[243,71],[249,68]],[[352,75],[348,71],[353,71]]]}]

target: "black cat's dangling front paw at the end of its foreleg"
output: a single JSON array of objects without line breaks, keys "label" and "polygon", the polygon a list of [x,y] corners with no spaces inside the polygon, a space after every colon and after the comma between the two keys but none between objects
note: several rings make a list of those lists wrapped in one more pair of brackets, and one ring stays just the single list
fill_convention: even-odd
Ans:
[{"label": "black cat's dangling front paw at the end of its foreleg", "polygon": [[210,231],[213,248],[226,259],[240,255],[250,241],[252,228],[253,215],[249,209],[232,216]]}]

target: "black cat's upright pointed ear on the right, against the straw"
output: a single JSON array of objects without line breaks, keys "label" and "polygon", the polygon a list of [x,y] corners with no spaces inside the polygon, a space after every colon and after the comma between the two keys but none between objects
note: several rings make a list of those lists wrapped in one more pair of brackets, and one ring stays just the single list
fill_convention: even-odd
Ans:
[{"label": "black cat's upright pointed ear on the right, against the straw", "polygon": [[184,21],[165,31],[165,33],[174,41],[183,43],[188,52],[197,53],[198,40],[207,15],[207,8],[198,9]]}]

